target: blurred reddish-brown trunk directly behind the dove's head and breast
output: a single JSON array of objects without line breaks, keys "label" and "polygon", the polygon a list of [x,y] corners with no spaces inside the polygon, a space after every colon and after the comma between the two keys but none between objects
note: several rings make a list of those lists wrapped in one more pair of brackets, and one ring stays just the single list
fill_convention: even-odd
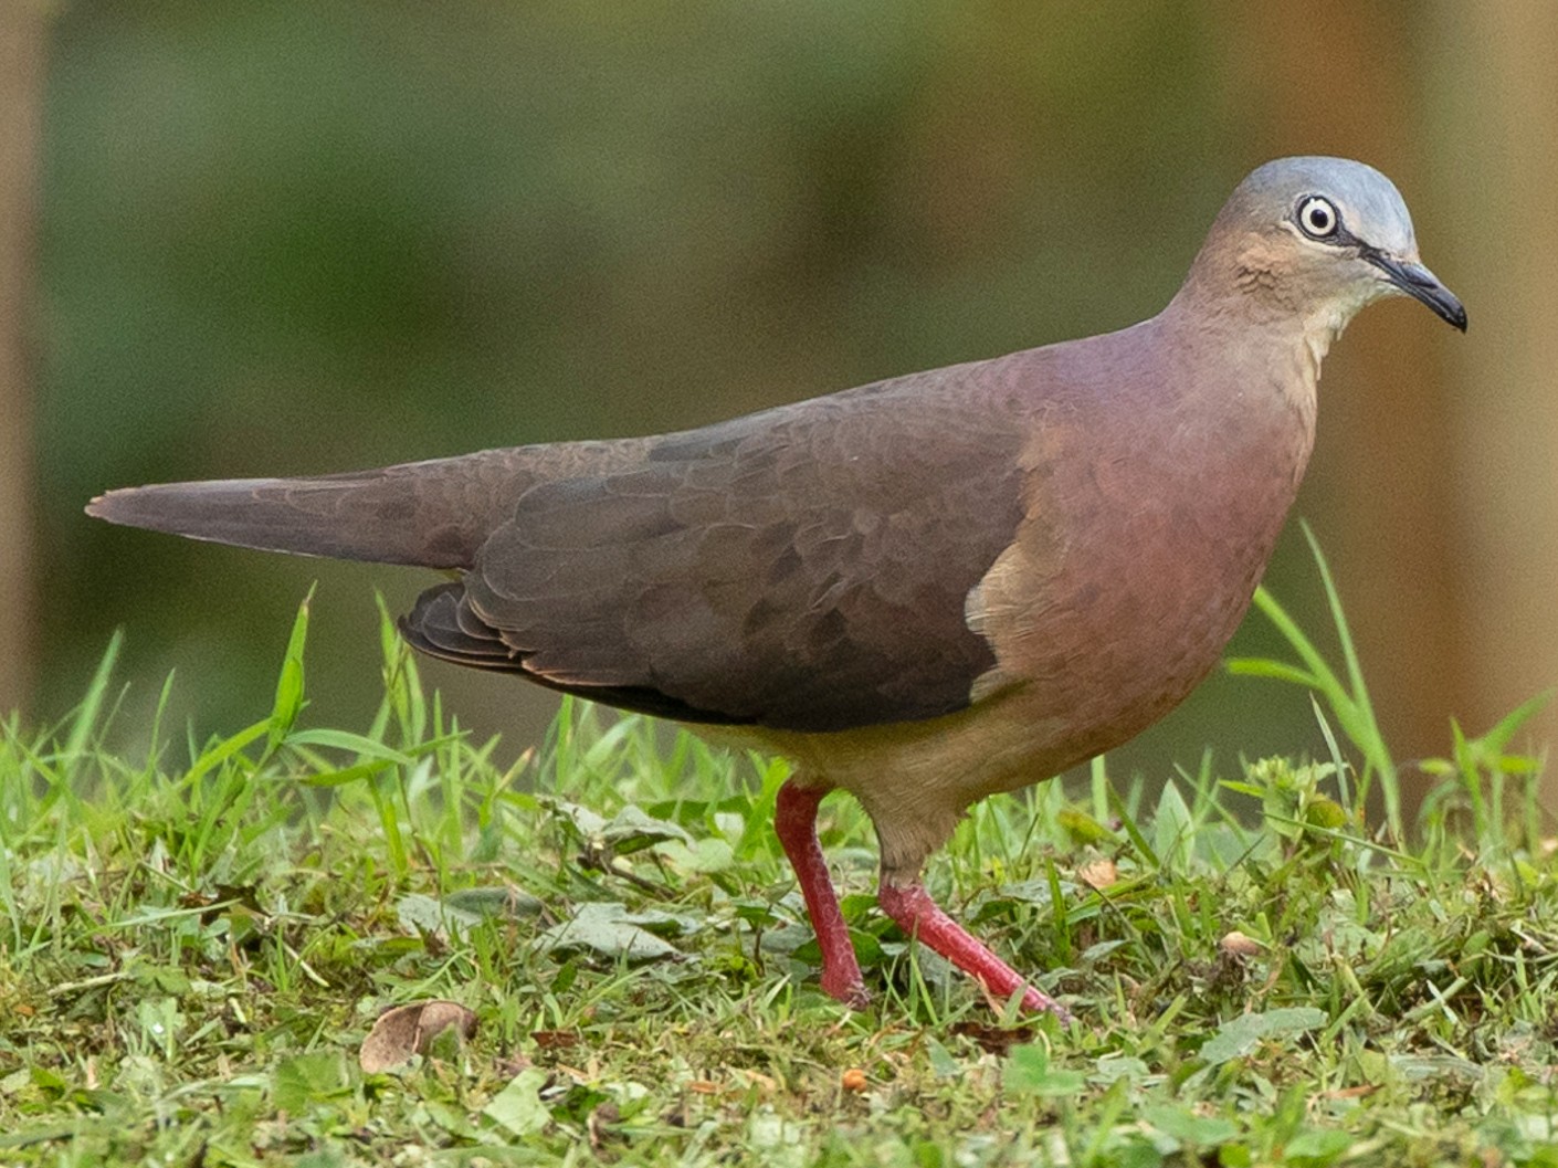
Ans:
[{"label": "blurred reddish-brown trunk directly behind the dove's head and breast", "polygon": [[[1407,42],[1416,9],[1310,0],[1234,11],[1229,51],[1262,137],[1256,153],[1326,153],[1329,139],[1343,137],[1390,176],[1412,207],[1424,260],[1469,305],[1475,339],[1477,297],[1447,260],[1446,237],[1460,221],[1441,210],[1447,179],[1433,168],[1424,81],[1408,72],[1407,53],[1380,51]],[[1317,28],[1327,30],[1323,50]],[[1399,760],[1443,754],[1450,715],[1474,726],[1469,704],[1482,709],[1466,670],[1455,480],[1446,473],[1455,463],[1449,361],[1465,341],[1416,305],[1363,313],[1326,360],[1320,434],[1298,505],[1335,570]],[[1313,578],[1307,564],[1302,578]],[[1324,628],[1317,621],[1312,632]]]}]

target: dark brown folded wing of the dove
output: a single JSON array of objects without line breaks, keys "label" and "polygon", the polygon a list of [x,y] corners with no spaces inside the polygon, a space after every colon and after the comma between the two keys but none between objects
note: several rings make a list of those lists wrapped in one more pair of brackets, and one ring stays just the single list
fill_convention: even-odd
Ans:
[{"label": "dark brown folded wing of the dove", "polygon": [[407,635],[686,721],[840,730],[963,709],[994,663],[966,596],[1022,517],[1017,427],[966,408],[963,372],[533,486]]}]

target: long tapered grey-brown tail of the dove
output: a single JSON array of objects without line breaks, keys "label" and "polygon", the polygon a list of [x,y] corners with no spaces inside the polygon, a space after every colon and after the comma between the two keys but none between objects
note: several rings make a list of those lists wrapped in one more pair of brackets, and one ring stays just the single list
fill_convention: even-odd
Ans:
[{"label": "long tapered grey-brown tail of the dove", "polygon": [[517,450],[316,478],[164,483],[98,495],[87,514],[263,551],[469,568],[528,486]]}]

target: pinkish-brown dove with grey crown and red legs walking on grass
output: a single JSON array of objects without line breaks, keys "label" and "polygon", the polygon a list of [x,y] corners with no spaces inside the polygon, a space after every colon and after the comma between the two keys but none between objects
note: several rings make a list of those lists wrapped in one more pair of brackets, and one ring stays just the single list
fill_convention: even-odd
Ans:
[{"label": "pinkish-brown dove with grey crown and red legs walking on grass", "polygon": [[1117,332],[678,433],[126,487],[87,512],[444,570],[399,621],[424,654],[791,762],[774,832],[827,995],[869,1001],[816,835],[843,790],[876,829],[880,909],[992,1001],[1066,1017],[932,899],[925,861],[972,804],[1119,746],[1215,667],[1309,463],[1321,360],[1402,294],[1466,330],[1390,179],[1285,157]]}]

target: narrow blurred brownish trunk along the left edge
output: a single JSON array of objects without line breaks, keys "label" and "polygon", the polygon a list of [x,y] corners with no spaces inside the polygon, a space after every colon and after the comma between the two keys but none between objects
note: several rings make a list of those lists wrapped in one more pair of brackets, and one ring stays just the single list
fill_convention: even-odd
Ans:
[{"label": "narrow blurred brownish trunk along the left edge", "polygon": [[51,6],[0,0],[0,713],[26,702],[33,629],[33,223]]}]

